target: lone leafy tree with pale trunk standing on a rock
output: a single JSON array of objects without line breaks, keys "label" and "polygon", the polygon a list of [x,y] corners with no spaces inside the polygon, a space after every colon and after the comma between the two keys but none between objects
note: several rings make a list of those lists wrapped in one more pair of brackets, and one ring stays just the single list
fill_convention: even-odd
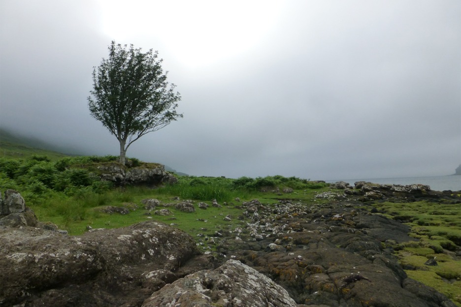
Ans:
[{"label": "lone leafy tree with pale trunk standing on a rock", "polygon": [[128,147],[141,136],[182,118],[176,112],[181,100],[175,85],[168,88],[158,52],[142,53],[133,45],[112,41],[109,58],[93,67],[93,95],[88,97],[91,115],[120,143],[120,163],[125,164]]}]

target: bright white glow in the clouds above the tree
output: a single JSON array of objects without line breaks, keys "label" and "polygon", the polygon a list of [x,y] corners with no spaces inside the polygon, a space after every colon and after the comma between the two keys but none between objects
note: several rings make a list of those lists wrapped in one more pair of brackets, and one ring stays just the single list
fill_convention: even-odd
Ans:
[{"label": "bright white glow in the clouds above the tree", "polygon": [[103,32],[116,41],[155,38],[189,68],[251,50],[269,37],[283,10],[283,2],[274,0],[126,3],[99,1]]}]

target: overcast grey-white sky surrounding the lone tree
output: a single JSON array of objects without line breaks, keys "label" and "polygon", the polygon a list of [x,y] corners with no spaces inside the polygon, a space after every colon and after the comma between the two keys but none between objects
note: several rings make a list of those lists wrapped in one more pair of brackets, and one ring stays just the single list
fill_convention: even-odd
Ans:
[{"label": "overcast grey-white sky surrounding the lone tree", "polygon": [[87,101],[112,40],[157,50],[182,97],[130,157],[311,180],[461,163],[459,0],[1,0],[1,128],[117,155]]}]

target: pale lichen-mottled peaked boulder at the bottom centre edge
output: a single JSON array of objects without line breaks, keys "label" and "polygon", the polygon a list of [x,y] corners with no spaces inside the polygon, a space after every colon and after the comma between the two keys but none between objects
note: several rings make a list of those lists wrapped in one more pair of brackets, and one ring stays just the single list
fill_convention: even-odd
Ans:
[{"label": "pale lichen-mottled peaked boulder at the bottom centre edge", "polygon": [[258,271],[236,260],[165,285],[142,307],[297,307],[288,292]]}]

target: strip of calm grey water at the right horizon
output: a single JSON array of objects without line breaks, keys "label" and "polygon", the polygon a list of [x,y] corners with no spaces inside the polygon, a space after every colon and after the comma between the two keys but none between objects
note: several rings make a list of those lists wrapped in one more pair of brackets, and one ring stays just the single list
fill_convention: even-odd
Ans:
[{"label": "strip of calm grey water at the right horizon", "polygon": [[346,180],[329,180],[328,183],[344,181],[351,185],[355,182],[365,181],[375,184],[427,184],[431,190],[443,191],[461,190],[461,176],[431,176],[431,177],[408,177],[408,178],[379,178],[379,179],[346,179]]}]

